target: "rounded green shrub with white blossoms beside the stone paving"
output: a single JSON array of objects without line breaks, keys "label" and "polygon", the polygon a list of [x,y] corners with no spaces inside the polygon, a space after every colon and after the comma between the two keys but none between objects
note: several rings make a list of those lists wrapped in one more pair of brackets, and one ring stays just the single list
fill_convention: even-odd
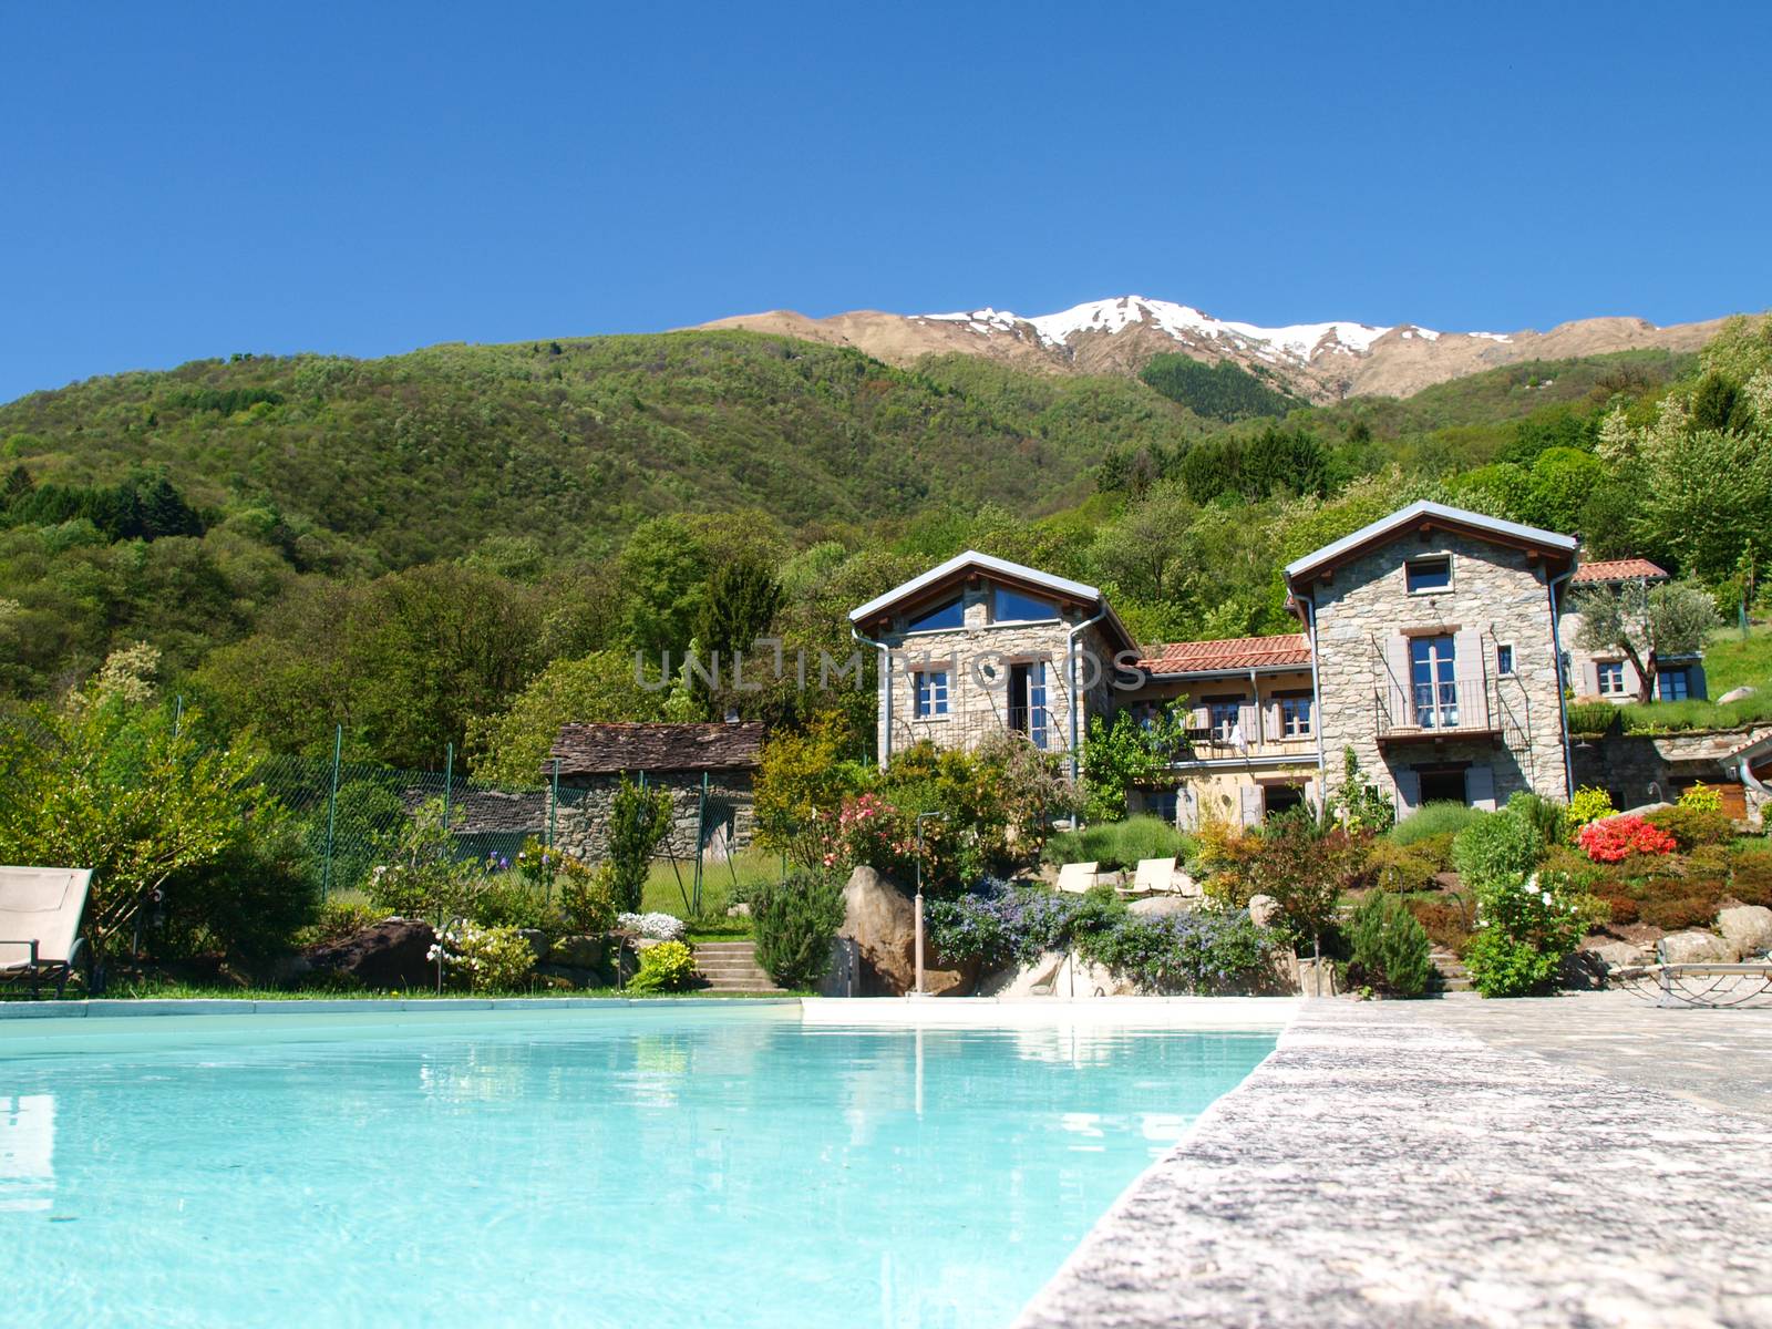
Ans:
[{"label": "rounded green shrub with white blossoms beside the stone paving", "polygon": [[1481,881],[1476,886],[1478,930],[1464,952],[1471,985],[1487,998],[1545,989],[1604,913],[1604,904],[1563,874]]}]

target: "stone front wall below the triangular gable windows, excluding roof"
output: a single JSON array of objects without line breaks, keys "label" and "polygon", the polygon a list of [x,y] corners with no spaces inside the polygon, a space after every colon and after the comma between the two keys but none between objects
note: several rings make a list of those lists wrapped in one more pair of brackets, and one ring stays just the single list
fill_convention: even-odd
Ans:
[{"label": "stone front wall below the triangular gable windows, excluding roof", "polygon": [[[1047,751],[1069,753],[1072,714],[1081,746],[1090,718],[1109,712],[1115,652],[1108,638],[1093,626],[1077,633],[1076,686],[1067,657],[1072,629],[1093,615],[1065,606],[1058,618],[1045,622],[996,624],[991,622],[991,588],[987,579],[966,587],[962,627],[909,633],[900,615],[893,631],[877,638],[890,647],[879,684],[877,739],[882,758],[923,739],[939,748],[975,748],[985,735],[1010,728],[1012,721],[1037,739],[1044,730]],[[1015,666],[1038,670],[1044,679],[1044,712],[1028,721],[1012,714]],[[918,714],[920,672],[946,675],[946,712]]]}]

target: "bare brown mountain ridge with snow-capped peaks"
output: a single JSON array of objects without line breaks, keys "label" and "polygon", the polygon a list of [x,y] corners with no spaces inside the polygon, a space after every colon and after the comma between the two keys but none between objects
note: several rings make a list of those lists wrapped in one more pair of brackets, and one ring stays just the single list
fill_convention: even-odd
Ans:
[{"label": "bare brown mountain ridge with snow-capped peaks", "polygon": [[952,314],[851,310],[813,319],[794,310],[739,314],[698,330],[746,330],[852,346],[898,367],[929,354],[975,354],[1051,374],[1138,374],[1152,356],[1230,360],[1306,400],[1409,397],[1435,383],[1526,360],[1572,360],[1611,351],[1696,351],[1724,319],[1660,328],[1630,315],[1559,323],[1549,331],[1441,331],[1412,323],[1352,319],[1265,328],[1217,319],[1191,305],[1113,296],[1022,317],[978,308]]}]

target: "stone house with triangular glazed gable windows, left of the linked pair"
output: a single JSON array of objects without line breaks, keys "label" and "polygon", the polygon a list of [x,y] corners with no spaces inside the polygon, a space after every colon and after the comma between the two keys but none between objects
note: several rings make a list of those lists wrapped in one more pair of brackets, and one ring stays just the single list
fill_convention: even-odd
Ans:
[{"label": "stone house with triangular glazed gable windows, left of the linked pair", "polygon": [[1116,661],[1138,645],[1095,587],[968,549],[849,615],[879,661],[882,766],[930,739],[971,748],[1001,730],[1076,757],[1113,711]]}]

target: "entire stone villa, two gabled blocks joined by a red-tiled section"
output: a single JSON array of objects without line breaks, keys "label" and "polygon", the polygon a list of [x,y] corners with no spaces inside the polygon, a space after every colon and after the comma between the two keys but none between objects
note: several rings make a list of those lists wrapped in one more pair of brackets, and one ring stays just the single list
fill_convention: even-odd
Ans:
[{"label": "entire stone villa, two gabled blocks joined by a red-tiled section", "polygon": [[882,652],[879,750],[1010,728],[1076,769],[1092,716],[1184,705],[1180,826],[1320,806],[1354,748],[1398,815],[1568,797],[1558,618],[1568,535],[1414,503],[1286,567],[1302,633],[1132,649],[1093,587],[964,553],[851,613]]}]

